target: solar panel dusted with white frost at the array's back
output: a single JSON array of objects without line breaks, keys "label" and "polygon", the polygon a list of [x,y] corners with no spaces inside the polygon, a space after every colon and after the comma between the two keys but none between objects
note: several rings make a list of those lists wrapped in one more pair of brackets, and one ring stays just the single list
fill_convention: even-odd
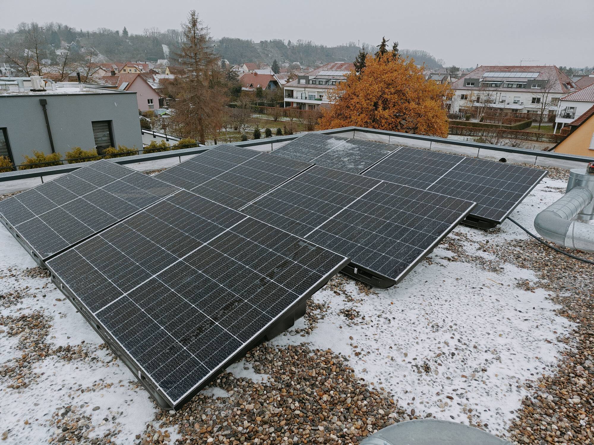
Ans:
[{"label": "solar panel dusted with white frost at the array's back", "polygon": [[359,139],[307,133],[272,151],[272,154],[331,169],[361,173],[394,150],[392,145]]}]

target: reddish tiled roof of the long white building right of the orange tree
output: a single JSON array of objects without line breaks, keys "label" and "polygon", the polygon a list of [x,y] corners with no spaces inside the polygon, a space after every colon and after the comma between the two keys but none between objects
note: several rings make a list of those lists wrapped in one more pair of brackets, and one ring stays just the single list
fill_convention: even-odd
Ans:
[{"label": "reddish tiled roof of the long white building right of the orange tree", "polygon": [[[454,90],[476,90],[476,87],[466,87],[466,78],[476,79],[484,76],[485,72],[538,72],[536,80],[547,80],[551,84],[550,93],[571,93],[575,89],[565,87],[566,83],[574,84],[557,66],[524,66],[524,65],[483,65],[473,69],[461,79],[454,82],[451,87]],[[496,79],[496,78],[493,78]],[[501,78],[501,80],[511,80],[510,78]],[[526,80],[526,78],[522,78]],[[483,88],[483,87],[481,87]],[[497,91],[518,91],[519,88],[488,88]],[[538,88],[530,91],[539,91]]]}]

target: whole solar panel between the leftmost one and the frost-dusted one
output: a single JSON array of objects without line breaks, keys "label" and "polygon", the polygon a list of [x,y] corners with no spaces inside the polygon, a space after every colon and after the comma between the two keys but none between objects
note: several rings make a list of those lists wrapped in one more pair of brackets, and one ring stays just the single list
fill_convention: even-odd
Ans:
[{"label": "whole solar panel between the leftmost one and the frost-dusted one", "polygon": [[312,164],[219,145],[155,176],[239,209]]}]

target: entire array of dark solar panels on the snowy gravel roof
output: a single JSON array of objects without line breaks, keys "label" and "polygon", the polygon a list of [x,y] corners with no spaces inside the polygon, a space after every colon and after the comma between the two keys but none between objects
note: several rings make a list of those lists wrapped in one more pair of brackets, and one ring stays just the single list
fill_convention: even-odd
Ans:
[{"label": "entire array of dark solar panels on the snowy gravel roof", "polygon": [[398,282],[470,212],[503,221],[546,174],[394,149],[306,134],[272,154],[217,145],[153,177],[97,161],[0,216],[176,407],[349,261]]}]

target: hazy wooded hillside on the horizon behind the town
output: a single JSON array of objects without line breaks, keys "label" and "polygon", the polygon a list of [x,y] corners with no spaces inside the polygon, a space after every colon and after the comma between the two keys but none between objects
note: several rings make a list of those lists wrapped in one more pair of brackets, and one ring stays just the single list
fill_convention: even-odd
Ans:
[{"label": "hazy wooded hillside on the horizon behind the town", "polygon": [[[123,62],[123,61],[153,61],[165,59],[168,55],[165,48],[171,50],[169,57],[175,63],[175,47],[181,42],[181,31],[159,28],[147,28],[143,34],[129,34],[127,29],[111,30],[97,28],[83,31],[61,23],[46,23],[39,26],[36,23],[21,23],[14,31],[0,33],[0,48],[8,49],[8,53],[23,53],[27,46],[37,47],[42,59],[49,59],[52,64],[60,63],[55,51],[69,47],[72,59],[86,59],[93,53],[93,61]],[[74,43],[75,45],[71,45]],[[263,62],[272,63],[276,59],[279,63],[298,62],[304,66],[327,62],[352,62],[359,52],[355,42],[339,46],[319,45],[311,40],[297,40],[285,42],[280,39],[254,42],[249,39],[222,37],[213,40],[214,49],[221,58],[230,63]],[[369,52],[375,51],[374,45],[362,45]],[[437,60],[423,50],[401,50],[403,55],[415,58],[416,63],[425,63],[430,68],[441,66]],[[1,52],[0,52],[1,55]]]}]

